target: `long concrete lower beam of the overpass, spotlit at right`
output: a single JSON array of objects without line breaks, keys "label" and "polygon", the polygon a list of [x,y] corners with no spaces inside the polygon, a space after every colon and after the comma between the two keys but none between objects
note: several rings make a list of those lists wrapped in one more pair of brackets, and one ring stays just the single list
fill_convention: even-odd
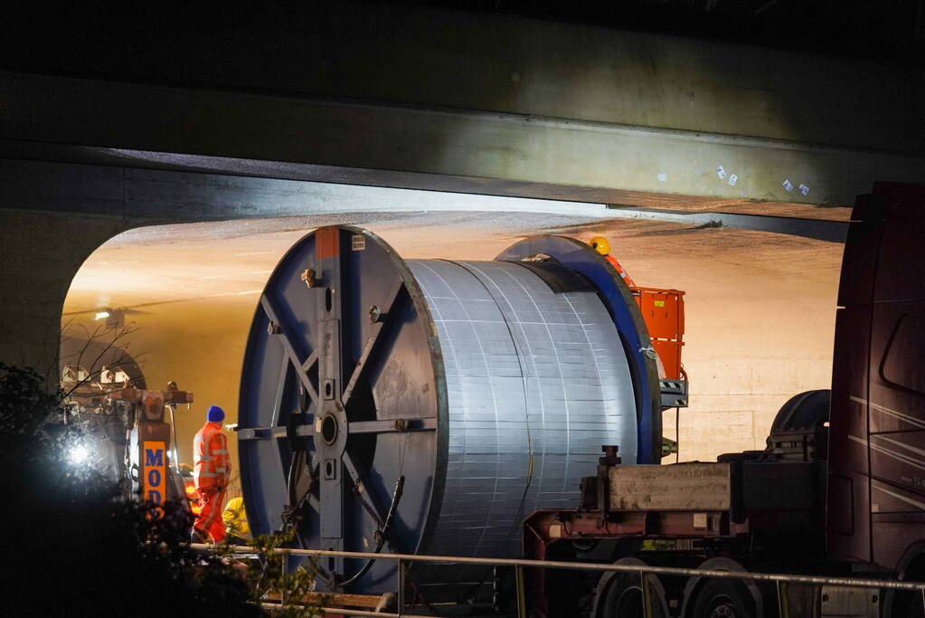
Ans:
[{"label": "long concrete lower beam of the overpass, spotlit at right", "polygon": [[898,151],[34,75],[0,75],[0,83],[0,152],[14,156],[39,142],[40,156],[62,159],[74,151],[55,144],[78,144],[94,147],[94,158],[81,151],[80,161],[110,165],[182,167],[159,154],[222,156],[248,160],[226,169],[243,175],[256,161],[277,178],[418,189],[453,179],[462,191],[508,194],[541,183],[566,199],[617,192],[613,201],[642,191],[850,205],[874,180],[925,181],[925,157]]}]

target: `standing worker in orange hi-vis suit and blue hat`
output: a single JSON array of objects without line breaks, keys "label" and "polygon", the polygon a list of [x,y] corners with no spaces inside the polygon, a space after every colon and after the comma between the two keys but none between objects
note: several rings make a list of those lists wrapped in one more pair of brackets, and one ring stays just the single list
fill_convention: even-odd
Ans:
[{"label": "standing worker in orange hi-vis suit and blue hat", "polygon": [[192,442],[192,478],[196,483],[202,509],[192,525],[192,540],[204,543],[211,538],[220,543],[225,540],[222,506],[225,503],[228,478],[231,476],[228,439],[222,433],[221,425],[225,420],[225,411],[213,405],[205,417],[205,425],[196,433]]}]

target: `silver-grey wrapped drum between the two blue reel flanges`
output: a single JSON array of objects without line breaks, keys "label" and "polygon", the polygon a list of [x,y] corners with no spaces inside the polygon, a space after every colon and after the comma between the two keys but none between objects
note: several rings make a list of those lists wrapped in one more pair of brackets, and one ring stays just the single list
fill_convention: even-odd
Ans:
[{"label": "silver-grey wrapped drum between the two blue reel flanges", "polygon": [[409,260],[438,332],[450,410],[430,551],[519,555],[537,508],[577,506],[602,444],[635,461],[633,382],[593,291],[556,293],[507,262]]}]

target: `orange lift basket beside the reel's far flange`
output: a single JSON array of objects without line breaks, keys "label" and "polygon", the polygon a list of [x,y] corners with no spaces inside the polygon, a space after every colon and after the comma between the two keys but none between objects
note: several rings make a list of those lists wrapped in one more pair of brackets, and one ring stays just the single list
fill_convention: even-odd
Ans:
[{"label": "orange lift basket beside the reel's far flange", "polygon": [[646,321],[652,347],[659,354],[665,375],[681,379],[681,348],[685,335],[685,292],[660,288],[632,288]]}]

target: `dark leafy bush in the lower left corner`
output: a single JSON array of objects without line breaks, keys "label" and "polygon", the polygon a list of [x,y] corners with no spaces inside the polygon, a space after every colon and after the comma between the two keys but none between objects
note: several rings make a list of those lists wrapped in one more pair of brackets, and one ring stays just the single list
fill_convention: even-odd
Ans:
[{"label": "dark leafy bush in the lower left corner", "polygon": [[4,614],[264,615],[240,569],[190,549],[183,506],[154,516],[68,461],[70,420],[35,372],[0,365]]}]

